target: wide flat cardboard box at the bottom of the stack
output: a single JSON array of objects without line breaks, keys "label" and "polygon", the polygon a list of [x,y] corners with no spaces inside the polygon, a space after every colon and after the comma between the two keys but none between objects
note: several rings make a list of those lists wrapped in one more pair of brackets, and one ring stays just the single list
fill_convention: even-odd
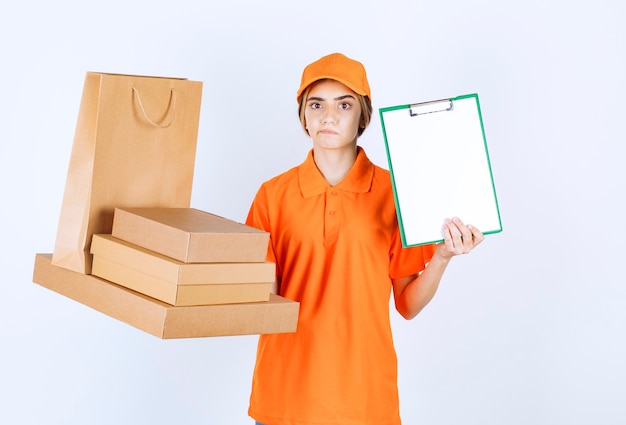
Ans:
[{"label": "wide flat cardboard box at the bottom of the stack", "polygon": [[175,307],[37,254],[33,282],[163,339],[295,332],[300,304],[278,295],[259,303]]}]

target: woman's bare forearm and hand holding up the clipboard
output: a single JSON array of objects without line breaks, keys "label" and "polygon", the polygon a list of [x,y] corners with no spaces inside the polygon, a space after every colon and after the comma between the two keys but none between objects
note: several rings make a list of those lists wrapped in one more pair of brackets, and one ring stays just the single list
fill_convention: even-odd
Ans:
[{"label": "woman's bare forearm and hand holding up the clipboard", "polygon": [[484,240],[480,230],[454,218],[443,226],[444,241],[437,244],[435,254],[419,275],[393,279],[393,297],[396,310],[407,320],[417,316],[432,300],[452,257],[469,253]]}]

